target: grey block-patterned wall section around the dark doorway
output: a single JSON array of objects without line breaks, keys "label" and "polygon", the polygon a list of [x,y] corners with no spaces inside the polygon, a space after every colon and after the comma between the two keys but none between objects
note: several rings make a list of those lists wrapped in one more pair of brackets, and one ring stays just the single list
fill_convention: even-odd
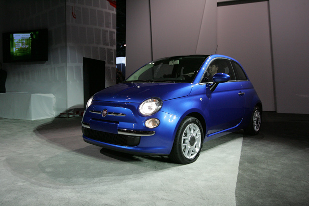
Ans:
[{"label": "grey block-patterned wall section around the dark doorway", "polygon": [[83,57],[105,61],[105,87],[116,84],[116,9],[106,0],[67,0],[66,22],[67,108],[82,108]]}]

